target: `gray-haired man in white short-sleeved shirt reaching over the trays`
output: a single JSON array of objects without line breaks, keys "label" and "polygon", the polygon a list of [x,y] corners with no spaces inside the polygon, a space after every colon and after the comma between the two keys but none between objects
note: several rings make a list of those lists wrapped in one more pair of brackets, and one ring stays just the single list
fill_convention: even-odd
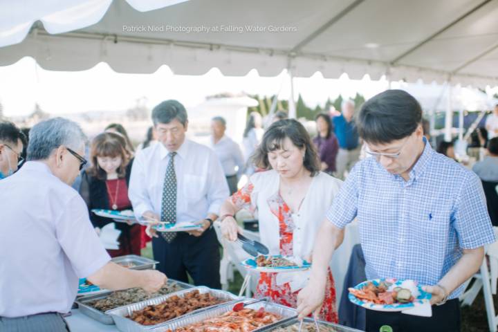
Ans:
[{"label": "gray-haired man in white short-sleeved shirt reaching over the trays", "polygon": [[70,187],[86,160],[84,133],[53,118],[30,131],[28,162],[0,181],[0,331],[68,331],[62,314],[78,278],[111,290],[157,291],[156,270],[111,263],[80,194]]}]

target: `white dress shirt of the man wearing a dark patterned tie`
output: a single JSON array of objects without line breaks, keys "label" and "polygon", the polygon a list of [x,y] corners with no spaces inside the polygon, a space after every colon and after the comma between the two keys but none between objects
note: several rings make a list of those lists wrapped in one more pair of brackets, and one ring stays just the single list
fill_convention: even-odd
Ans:
[{"label": "white dress shirt of the man wearing a dark patterned tie", "polygon": [[[174,157],[176,173],[176,222],[199,221],[219,214],[227,199],[223,168],[209,147],[185,139]],[[169,151],[156,144],[136,154],[131,168],[128,196],[137,218],[147,211],[160,215]]]}]

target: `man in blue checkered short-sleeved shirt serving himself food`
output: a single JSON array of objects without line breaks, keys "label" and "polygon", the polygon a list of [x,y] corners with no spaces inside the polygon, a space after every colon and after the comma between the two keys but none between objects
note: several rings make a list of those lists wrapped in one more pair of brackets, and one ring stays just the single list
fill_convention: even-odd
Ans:
[{"label": "man in blue checkered short-sleeved shirt serving himself food", "polygon": [[326,269],[358,219],[367,279],[413,279],[432,293],[432,317],[367,310],[367,331],[459,331],[458,297],[479,270],[484,245],[495,241],[479,178],[437,154],[423,137],[422,110],[412,95],[389,90],[367,101],[356,121],[367,145],[318,232],[300,317],[322,304]]}]

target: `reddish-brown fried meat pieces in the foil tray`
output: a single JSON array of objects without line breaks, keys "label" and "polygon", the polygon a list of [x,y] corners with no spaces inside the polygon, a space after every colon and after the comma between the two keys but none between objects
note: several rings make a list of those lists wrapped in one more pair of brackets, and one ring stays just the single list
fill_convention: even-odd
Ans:
[{"label": "reddish-brown fried meat pieces in the foil tray", "polygon": [[138,324],[155,325],[180,317],[185,313],[223,302],[226,301],[214,297],[210,293],[201,294],[198,290],[194,290],[181,296],[173,295],[160,304],[146,306],[141,310],[134,311],[129,318]]}]

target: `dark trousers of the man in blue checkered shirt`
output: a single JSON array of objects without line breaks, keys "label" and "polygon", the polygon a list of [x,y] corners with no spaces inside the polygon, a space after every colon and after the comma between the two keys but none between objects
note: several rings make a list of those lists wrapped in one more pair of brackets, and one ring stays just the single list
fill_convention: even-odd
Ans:
[{"label": "dark trousers of the man in blue checkered shirt", "polygon": [[459,299],[450,299],[442,306],[432,306],[432,317],[367,310],[367,332],[378,332],[382,325],[391,326],[393,332],[459,332]]}]

